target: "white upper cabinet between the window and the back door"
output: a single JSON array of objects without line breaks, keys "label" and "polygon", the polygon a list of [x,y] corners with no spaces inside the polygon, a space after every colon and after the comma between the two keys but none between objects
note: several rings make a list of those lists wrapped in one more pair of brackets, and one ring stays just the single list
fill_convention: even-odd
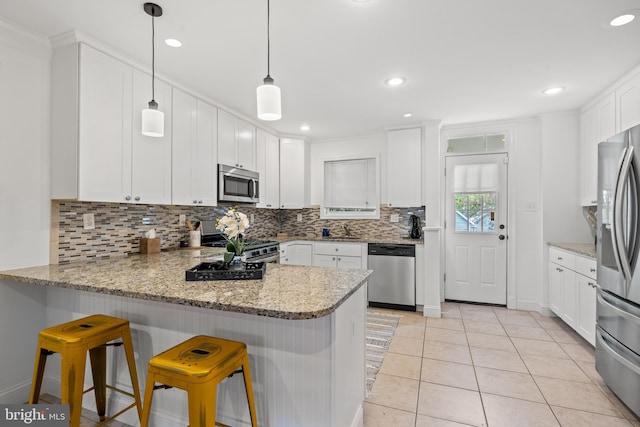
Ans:
[{"label": "white upper cabinet between the window and the back door", "polygon": [[422,131],[387,132],[387,203],[393,207],[422,206]]}]

